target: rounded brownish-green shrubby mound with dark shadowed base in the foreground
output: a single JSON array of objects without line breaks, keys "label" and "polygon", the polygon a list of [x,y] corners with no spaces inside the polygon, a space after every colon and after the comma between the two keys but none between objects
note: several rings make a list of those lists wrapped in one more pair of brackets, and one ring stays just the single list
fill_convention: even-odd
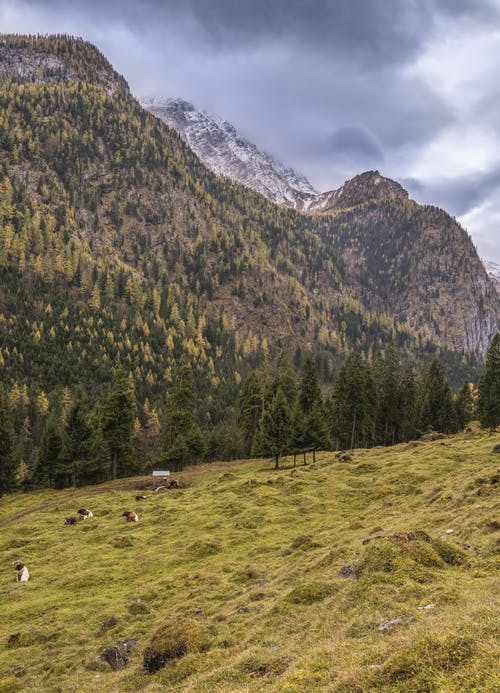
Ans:
[{"label": "rounded brownish-green shrubby mound with dark shadowed base in the foreground", "polygon": [[166,621],[153,635],[144,651],[144,668],[158,671],[170,660],[192,652],[203,652],[210,645],[206,628],[194,618]]}]

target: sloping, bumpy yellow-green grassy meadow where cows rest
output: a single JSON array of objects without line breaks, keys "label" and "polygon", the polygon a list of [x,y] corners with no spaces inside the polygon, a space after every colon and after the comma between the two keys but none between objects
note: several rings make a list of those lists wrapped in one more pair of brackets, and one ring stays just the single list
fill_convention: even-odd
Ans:
[{"label": "sloping, bumpy yellow-green grassy meadow where cows rest", "polygon": [[[0,693],[500,690],[497,443],[473,428],[199,466],[159,493],[1,498]],[[64,526],[79,507],[94,518]],[[114,671],[98,655],[119,639],[137,642]]]}]

